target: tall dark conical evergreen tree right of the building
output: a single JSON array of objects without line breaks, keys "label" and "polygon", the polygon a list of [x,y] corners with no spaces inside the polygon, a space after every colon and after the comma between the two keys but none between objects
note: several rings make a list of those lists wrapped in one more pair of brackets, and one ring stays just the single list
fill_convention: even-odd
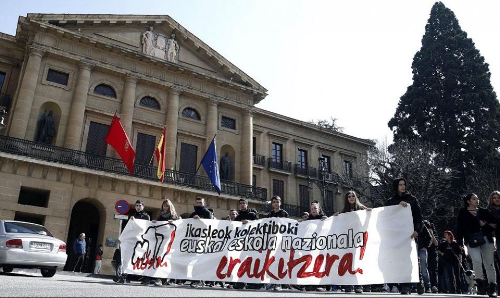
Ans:
[{"label": "tall dark conical evergreen tree right of the building", "polygon": [[461,183],[478,163],[497,165],[500,104],[488,64],[441,2],[432,7],[412,69],[413,84],[388,123],[394,141],[418,139],[456,150]]}]

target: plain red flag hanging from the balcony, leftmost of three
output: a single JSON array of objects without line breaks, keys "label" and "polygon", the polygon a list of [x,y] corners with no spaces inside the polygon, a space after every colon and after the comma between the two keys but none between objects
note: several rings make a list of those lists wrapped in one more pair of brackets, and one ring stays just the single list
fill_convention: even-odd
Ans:
[{"label": "plain red flag hanging from the balcony, leftmost of three", "polygon": [[108,135],[104,141],[115,148],[116,152],[118,152],[120,157],[123,159],[123,163],[127,166],[128,171],[133,175],[135,151],[134,148],[132,148],[127,133],[125,133],[125,130],[120,123],[120,118],[118,118],[116,114],[113,117],[110,130],[108,131]]}]

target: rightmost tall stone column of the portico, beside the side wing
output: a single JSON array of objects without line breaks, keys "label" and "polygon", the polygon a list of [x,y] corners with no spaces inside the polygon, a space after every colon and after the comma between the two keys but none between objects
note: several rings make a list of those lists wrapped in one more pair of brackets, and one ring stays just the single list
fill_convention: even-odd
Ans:
[{"label": "rightmost tall stone column of the portico, beside the side wing", "polygon": [[242,184],[252,185],[252,137],[254,134],[253,113],[252,111],[243,111],[243,125],[241,126],[241,163],[240,163],[240,182]]}]

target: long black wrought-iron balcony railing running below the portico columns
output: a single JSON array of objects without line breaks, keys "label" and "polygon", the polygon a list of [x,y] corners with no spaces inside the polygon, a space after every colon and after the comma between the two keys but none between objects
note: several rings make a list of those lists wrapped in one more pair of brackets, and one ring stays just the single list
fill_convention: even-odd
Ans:
[{"label": "long black wrought-iron balcony railing running below the portico columns", "polygon": [[[83,151],[8,136],[0,136],[0,151],[130,176],[127,167],[121,159],[89,154]],[[134,177],[158,181],[156,173],[156,166],[134,164]],[[165,170],[164,183],[215,192],[209,177],[176,170]],[[221,182],[221,192],[227,195],[257,200],[267,199],[267,189],[229,181]]]}]

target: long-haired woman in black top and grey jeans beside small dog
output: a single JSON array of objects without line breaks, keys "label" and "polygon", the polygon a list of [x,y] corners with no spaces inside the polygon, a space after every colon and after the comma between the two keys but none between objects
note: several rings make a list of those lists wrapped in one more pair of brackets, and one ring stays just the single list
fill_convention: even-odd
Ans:
[{"label": "long-haired woman in black top and grey jeans beside small dog", "polygon": [[[461,249],[464,247],[464,242],[466,243],[476,274],[477,294],[484,295],[487,291],[490,297],[496,296],[496,272],[493,260],[495,219],[486,209],[478,207],[479,199],[475,194],[465,195],[463,203],[464,207],[460,208],[457,217],[457,243]],[[481,270],[481,263],[486,270],[486,276]]]}]

